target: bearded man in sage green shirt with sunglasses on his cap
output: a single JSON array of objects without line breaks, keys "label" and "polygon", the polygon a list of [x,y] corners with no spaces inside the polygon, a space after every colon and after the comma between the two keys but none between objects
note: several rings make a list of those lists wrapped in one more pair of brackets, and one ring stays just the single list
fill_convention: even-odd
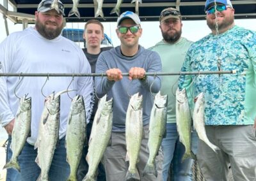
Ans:
[{"label": "bearded man in sage green shirt with sunglasses on his cap", "polygon": [[[150,50],[156,51],[162,61],[163,72],[180,71],[185,59],[186,52],[192,41],[181,37],[182,17],[180,12],[174,8],[166,8],[159,17],[160,29],[163,40],[159,41]],[[179,76],[163,76],[161,94],[168,94],[168,110],[166,124],[166,138],[163,139],[162,148],[164,154],[163,180],[168,179],[168,171],[172,163],[172,180],[192,180],[191,166],[193,159],[186,159],[181,162],[185,148],[179,141],[175,115],[175,91],[177,89]],[[198,137],[192,134],[192,150],[197,149]]]}]

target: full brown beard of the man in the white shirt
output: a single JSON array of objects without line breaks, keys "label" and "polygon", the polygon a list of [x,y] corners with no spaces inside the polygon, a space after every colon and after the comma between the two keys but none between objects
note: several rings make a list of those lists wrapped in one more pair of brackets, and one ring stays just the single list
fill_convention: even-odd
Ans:
[{"label": "full brown beard of the man in the white shirt", "polygon": [[[51,22],[53,24],[53,22]],[[56,38],[57,36],[59,36],[61,34],[63,25],[61,25],[60,27],[56,27],[56,29],[49,29],[46,27],[46,25],[42,24],[40,22],[40,20],[36,21],[36,30],[42,35],[44,36],[44,38],[47,38],[48,40],[52,40],[54,38]]]}]

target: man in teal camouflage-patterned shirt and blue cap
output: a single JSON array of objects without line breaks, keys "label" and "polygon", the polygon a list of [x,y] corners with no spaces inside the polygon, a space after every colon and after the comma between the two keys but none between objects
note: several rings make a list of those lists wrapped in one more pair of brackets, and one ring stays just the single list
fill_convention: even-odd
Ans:
[{"label": "man in teal camouflage-patterned shirt and blue cap", "polygon": [[205,180],[226,180],[228,164],[234,180],[255,180],[256,32],[234,24],[229,0],[207,0],[205,11],[212,33],[191,45],[182,71],[236,74],[180,76],[179,89],[192,83],[193,97],[204,92],[206,133],[220,147],[199,141],[198,163]]}]

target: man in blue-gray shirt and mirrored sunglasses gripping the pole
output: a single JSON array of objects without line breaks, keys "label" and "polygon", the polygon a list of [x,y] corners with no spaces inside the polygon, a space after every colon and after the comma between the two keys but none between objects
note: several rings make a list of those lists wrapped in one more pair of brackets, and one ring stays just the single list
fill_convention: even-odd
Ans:
[{"label": "man in blue-gray shirt and mirrored sunglasses gripping the pole", "polygon": [[[157,156],[158,177],[145,175],[143,169],[148,159],[148,123],[153,105],[150,93],[156,93],[161,88],[159,77],[145,76],[145,72],[159,72],[162,69],[161,59],[156,52],[146,50],[138,44],[142,33],[140,18],[131,11],[126,11],[117,20],[116,34],[121,45],[112,50],[102,52],[96,64],[96,73],[107,73],[107,77],[96,77],[95,87],[97,96],[108,94],[113,98],[113,129],[111,145],[104,154],[104,167],[107,180],[125,180],[128,165],[125,163],[125,116],[129,104],[129,95],[139,92],[143,95],[143,131],[138,171],[141,180],[162,180],[161,164],[163,154],[161,150]],[[129,78],[122,73],[129,72]],[[152,86],[151,86],[152,85]],[[151,86],[151,87],[150,87]]]}]

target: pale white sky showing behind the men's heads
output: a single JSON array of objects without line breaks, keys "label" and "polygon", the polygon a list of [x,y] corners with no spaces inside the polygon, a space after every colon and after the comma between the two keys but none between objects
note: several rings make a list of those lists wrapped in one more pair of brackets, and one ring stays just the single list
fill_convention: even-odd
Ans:
[{"label": "pale white sky showing behind the men's heads", "polygon": [[[0,0],[0,3],[3,4],[3,0]],[[68,23],[65,28],[83,29],[84,24],[84,22]],[[120,41],[115,33],[116,22],[103,22],[102,24],[104,25],[104,33],[111,38],[114,47],[120,45]],[[207,27],[206,20],[183,20],[182,24],[182,36],[191,41],[200,40],[200,38],[211,33],[209,27]],[[235,24],[246,29],[256,31],[256,19],[235,19]],[[22,24],[13,24],[10,20],[8,20],[8,27],[9,33],[22,31]],[[152,47],[162,40],[159,22],[141,22],[141,27],[143,29],[143,33],[139,43],[143,47]],[[6,38],[4,19],[3,16],[0,15],[0,42],[2,42],[4,38]],[[80,47],[83,47],[83,45],[80,45]]]}]

